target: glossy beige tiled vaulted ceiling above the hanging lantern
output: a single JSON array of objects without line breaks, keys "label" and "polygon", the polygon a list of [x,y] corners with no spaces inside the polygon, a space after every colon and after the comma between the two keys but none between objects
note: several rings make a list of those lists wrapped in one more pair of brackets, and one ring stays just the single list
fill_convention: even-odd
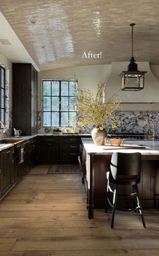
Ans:
[{"label": "glossy beige tiled vaulted ceiling above the hanging lantern", "polygon": [[159,65],[158,0],[1,0],[0,10],[39,70],[129,61],[132,22],[135,60]]}]

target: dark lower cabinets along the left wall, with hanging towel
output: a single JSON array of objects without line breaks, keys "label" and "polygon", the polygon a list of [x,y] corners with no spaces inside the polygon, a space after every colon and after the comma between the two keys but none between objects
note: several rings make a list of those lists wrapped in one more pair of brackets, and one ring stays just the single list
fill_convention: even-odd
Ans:
[{"label": "dark lower cabinets along the left wall, with hanging towel", "polygon": [[0,198],[34,165],[35,154],[34,140],[26,140],[0,151]]}]

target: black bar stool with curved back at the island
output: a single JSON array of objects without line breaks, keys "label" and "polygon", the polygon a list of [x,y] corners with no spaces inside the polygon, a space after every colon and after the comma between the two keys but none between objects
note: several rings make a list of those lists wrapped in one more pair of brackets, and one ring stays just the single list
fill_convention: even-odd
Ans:
[{"label": "black bar stool with curved back at the island", "polygon": [[[144,215],[141,207],[141,200],[139,198],[139,191],[137,184],[140,182],[141,175],[141,154],[139,152],[126,153],[126,152],[115,152],[112,155],[110,163],[110,171],[106,173],[107,182],[107,200],[106,209],[107,212],[108,204],[113,207],[112,217],[111,217],[111,228],[114,227],[115,220],[115,209],[117,205],[117,195],[119,186],[132,185],[133,192],[129,194],[133,196],[136,202],[135,209],[139,210],[141,215],[142,223],[144,228],[146,228],[146,222],[144,220]],[[114,190],[110,187],[110,184],[114,184]],[[113,193],[113,203],[110,202],[108,195]],[[125,196],[120,194],[121,196]],[[130,209],[129,209],[130,210]]]}]

